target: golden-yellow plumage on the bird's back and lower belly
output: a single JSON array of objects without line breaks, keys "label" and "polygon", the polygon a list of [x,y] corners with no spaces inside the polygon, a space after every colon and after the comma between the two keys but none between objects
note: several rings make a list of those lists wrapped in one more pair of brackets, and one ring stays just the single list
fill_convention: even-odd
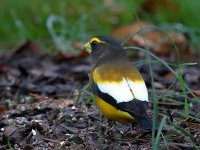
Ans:
[{"label": "golden-yellow plumage on the bird's back and lower belly", "polygon": [[[138,74],[138,71],[135,67],[131,65],[130,69],[127,70],[126,67],[129,64],[105,64],[98,68],[95,68],[90,74],[90,85],[91,82],[101,83],[101,84],[120,84],[124,77],[128,77],[130,79],[134,79],[137,82],[144,82],[141,75]],[[123,76],[121,72],[123,71]],[[132,74],[131,72],[135,73]],[[123,78],[122,78],[123,77]],[[127,112],[121,111],[116,107],[110,105],[105,100],[102,100],[97,95],[94,95],[96,104],[101,110],[102,114],[109,120],[114,120],[121,123],[134,123],[134,118]]]}]

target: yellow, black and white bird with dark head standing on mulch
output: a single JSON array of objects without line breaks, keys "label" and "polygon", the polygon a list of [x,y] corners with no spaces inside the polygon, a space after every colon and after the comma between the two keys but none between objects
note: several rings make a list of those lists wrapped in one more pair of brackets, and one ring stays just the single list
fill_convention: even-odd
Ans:
[{"label": "yellow, black and white bird with dark head standing on mulch", "polygon": [[147,87],[121,43],[111,37],[96,36],[83,49],[91,57],[89,84],[101,113],[108,120],[123,124],[136,122],[141,131],[150,132]]}]

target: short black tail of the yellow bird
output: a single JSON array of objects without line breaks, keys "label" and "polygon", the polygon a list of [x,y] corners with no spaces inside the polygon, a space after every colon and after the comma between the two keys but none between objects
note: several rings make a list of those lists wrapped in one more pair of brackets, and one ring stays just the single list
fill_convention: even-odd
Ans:
[{"label": "short black tail of the yellow bird", "polygon": [[152,120],[148,115],[145,117],[134,116],[134,118],[143,132],[150,132],[152,130]]}]

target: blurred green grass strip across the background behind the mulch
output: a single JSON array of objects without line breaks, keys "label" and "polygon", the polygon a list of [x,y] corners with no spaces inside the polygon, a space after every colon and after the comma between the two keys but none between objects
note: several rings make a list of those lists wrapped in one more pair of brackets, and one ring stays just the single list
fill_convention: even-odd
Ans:
[{"label": "blurred green grass strip across the background behind the mulch", "polygon": [[[158,7],[154,14],[146,15],[140,9],[144,1],[4,0],[0,5],[0,48],[10,49],[20,41],[32,39],[44,49],[56,47],[58,50],[71,50],[73,41],[109,35],[116,27],[136,21],[135,14],[165,30],[187,33],[189,40],[199,45],[199,0],[172,1],[178,5],[178,13],[173,9]],[[52,16],[57,21],[53,21],[53,28],[49,29],[47,24]],[[174,23],[182,23],[183,26]],[[57,36],[52,35],[51,31],[55,31]]]}]

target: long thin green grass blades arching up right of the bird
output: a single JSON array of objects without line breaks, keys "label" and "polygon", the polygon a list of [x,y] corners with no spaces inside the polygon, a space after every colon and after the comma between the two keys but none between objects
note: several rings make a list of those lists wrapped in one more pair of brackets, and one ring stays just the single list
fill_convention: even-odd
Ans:
[{"label": "long thin green grass blades arching up right of the bird", "polygon": [[[198,149],[198,147],[196,146],[196,143],[194,142],[194,139],[191,136],[191,134],[188,131],[186,131],[185,129],[179,127],[178,125],[176,125],[174,123],[171,123],[170,121],[167,121],[167,117],[166,116],[164,116],[162,118],[162,121],[160,123],[158,122],[158,113],[159,113],[159,110],[161,110],[161,109],[158,107],[159,96],[157,95],[156,89],[154,87],[154,78],[153,78],[154,75],[153,75],[153,70],[152,70],[152,65],[153,64],[161,63],[166,68],[168,68],[169,71],[171,71],[175,75],[175,77],[176,77],[175,81],[179,81],[180,82],[180,85],[181,85],[181,88],[182,88],[182,92],[180,92],[178,95],[179,96],[183,96],[185,98],[185,102],[184,102],[185,115],[184,115],[184,117],[185,117],[185,120],[187,120],[190,116],[189,116],[189,106],[188,106],[188,100],[187,100],[187,95],[186,94],[187,93],[191,93],[194,96],[194,99],[193,99],[194,102],[195,101],[199,102],[199,99],[192,93],[191,89],[185,84],[180,69],[182,67],[184,67],[184,66],[187,66],[187,65],[196,65],[196,63],[193,63],[193,62],[190,63],[189,62],[189,63],[180,64],[179,51],[176,48],[176,45],[174,44],[174,42],[168,37],[168,35],[162,29],[157,28],[157,27],[152,27],[151,26],[151,27],[146,27],[146,28],[154,28],[154,29],[157,29],[158,31],[164,33],[164,35],[167,36],[167,38],[174,45],[174,49],[177,52],[177,63],[176,64],[170,64],[170,63],[167,63],[167,62],[163,61],[159,57],[155,56],[152,52],[150,52],[149,49],[148,49],[148,45],[146,45],[146,49],[142,49],[142,48],[135,47],[135,46],[125,47],[126,50],[138,50],[138,51],[144,52],[147,55],[146,63],[149,64],[149,72],[150,72],[150,75],[151,75],[151,85],[152,85],[152,97],[150,97],[150,99],[153,102],[153,114],[154,114],[153,115],[153,130],[152,130],[152,147],[153,147],[153,149],[159,149],[160,148],[159,145],[162,142],[164,142],[163,144],[166,144],[166,139],[167,138],[165,138],[165,136],[170,137],[171,135],[168,134],[168,135],[164,136],[162,134],[162,128],[164,126],[168,126],[168,128],[170,130],[173,130],[174,132],[179,133],[179,131],[181,131],[181,136],[186,137],[187,141],[189,141],[189,143],[191,143],[195,149]],[[138,32],[141,32],[141,31],[145,30],[146,28],[143,28]],[[135,36],[136,34],[133,34],[132,36]],[[128,39],[126,39],[125,42],[126,41],[128,41]],[[151,63],[151,62],[153,62],[153,63]],[[145,63],[145,61],[143,63]],[[176,73],[174,69],[178,70],[178,72]],[[167,90],[169,90],[170,88],[173,87],[175,81],[172,82],[172,84],[168,87],[168,89],[165,90],[165,94],[162,95],[162,99],[166,100],[170,95],[171,96],[173,95],[172,93],[170,93],[170,95],[166,94],[166,93],[168,93]],[[172,99],[172,101],[176,102],[176,103],[179,103],[175,99]],[[156,129],[158,129],[157,130],[157,134],[156,134]],[[163,141],[161,141],[161,135],[162,135]]]}]

